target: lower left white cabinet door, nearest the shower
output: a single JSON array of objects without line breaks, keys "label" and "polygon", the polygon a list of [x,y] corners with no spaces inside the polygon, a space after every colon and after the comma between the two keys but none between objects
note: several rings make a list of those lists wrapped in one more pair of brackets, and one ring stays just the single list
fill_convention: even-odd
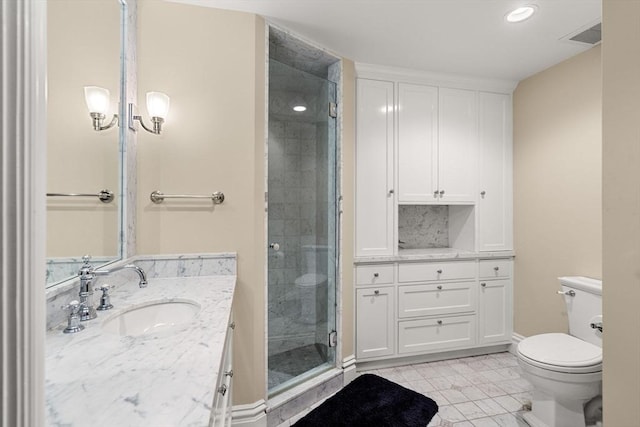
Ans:
[{"label": "lower left white cabinet door, nearest the shower", "polygon": [[392,356],[395,352],[393,286],[356,290],[356,357]]}]

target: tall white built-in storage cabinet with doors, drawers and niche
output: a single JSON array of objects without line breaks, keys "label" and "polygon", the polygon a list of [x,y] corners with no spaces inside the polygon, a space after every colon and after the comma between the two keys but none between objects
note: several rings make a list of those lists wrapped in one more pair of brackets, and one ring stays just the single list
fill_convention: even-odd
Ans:
[{"label": "tall white built-in storage cabinet with doors, drawers and niche", "polygon": [[515,82],[358,74],[358,363],[507,350]]}]

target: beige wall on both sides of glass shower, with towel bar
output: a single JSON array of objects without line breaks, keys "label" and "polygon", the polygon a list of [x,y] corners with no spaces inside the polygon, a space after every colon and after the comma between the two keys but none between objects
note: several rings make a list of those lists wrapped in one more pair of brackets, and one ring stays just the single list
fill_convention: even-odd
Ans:
[{"label": "beige wall on both sides of glass shower, with towel bar", "polygon": [[[138,105],[171,97],[161,136],[138,134],[137,253],[238,254],[234,404],[266,397],[264,116],[265,27],[253,15],[139,3]],[[355,70],[343,61],[342,357],[353,354]],[[224,204],[149,201],[149,193],[223,191]]]}]

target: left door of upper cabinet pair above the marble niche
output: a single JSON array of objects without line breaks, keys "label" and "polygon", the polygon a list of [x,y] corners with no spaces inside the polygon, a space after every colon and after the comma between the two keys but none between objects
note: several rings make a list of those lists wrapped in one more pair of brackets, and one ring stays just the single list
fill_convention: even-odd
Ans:
[{"label": "left door of upper cabinet pair above the marble niche", "polygon": [[398,201],[438,194],[438,88],[398,84]]}]

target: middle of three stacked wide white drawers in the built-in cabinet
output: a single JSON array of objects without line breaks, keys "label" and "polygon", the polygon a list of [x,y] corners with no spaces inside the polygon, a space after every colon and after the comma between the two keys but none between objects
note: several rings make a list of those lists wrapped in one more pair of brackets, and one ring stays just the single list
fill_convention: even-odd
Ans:
[{"label": "middle of three stacked wide white drawers in the built-in cabinet", "polygon": [[400,286],[398,317],[472,312],[476,309],[476,295],[476,282]]}]

